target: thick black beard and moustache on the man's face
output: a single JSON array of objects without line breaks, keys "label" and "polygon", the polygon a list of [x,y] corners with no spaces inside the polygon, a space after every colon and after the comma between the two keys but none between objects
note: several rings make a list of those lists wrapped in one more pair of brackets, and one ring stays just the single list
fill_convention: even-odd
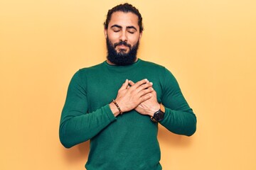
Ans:
[{"label": "thick black beard and moustache on the man's face", "polygon": [[[125,45],[129,47],[129,52],[125,52],[124,49],[121,49],[119,52],[115,50],[117,45]],[[112,62],[113,64],[119,66],[126,66],[133,64],[137,59],[137,50],[139,49],[139,40],[138,42],[132,47],[132,45],[127,44],[125,41],[120,41],[117,43],[112,44],[109,38],[107,38],[107,60]]]}]

